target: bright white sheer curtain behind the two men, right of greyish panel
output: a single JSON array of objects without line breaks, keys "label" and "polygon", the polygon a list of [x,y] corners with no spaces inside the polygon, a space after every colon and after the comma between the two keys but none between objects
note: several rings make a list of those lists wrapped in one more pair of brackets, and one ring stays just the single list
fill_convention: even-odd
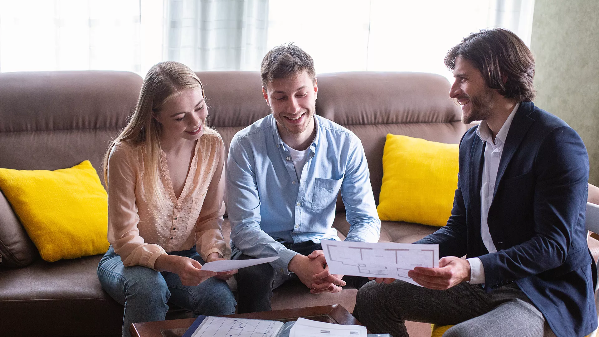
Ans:
[{"label": "bright white sheer curtain behind the two men, right of greyish panel", "polygon": [[533,8],[534,0],[304,0],[301,7],[273,0],[268,48],[295,41],[318,73],[423,71],[451,79],[443,64],[450,47],[492,26],[530,43]]}]

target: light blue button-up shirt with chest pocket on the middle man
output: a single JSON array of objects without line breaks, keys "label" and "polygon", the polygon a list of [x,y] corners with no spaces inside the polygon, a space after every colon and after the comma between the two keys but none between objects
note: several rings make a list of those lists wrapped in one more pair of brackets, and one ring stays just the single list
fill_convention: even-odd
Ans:
[{"label": "light blue button-up shirt with chest pocket on the middle man", "polygon": [[235,134],[229,149],[233,254],[279,256],[271,265],[285,274],[298,253],[280,242],[340,240],[332,228],[340,190],[350,224],[346,241],[379,240],[380,220],[362,143],[341,125],[314,118],[316,136],[299,181],[273,115]]}]

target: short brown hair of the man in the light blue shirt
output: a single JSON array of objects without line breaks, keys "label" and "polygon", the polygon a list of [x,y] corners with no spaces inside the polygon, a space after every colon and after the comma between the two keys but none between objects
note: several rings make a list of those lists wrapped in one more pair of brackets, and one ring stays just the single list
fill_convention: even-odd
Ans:
[{"label": "short brown hair of the man in the light blue shirt", "polygon": [[271,49],[262,59],[262,85],[266,88],[268,82],[274,79],[296,76],[302,71],[305,71],[314,83],[316,70],[311,56],[294,43],[282,44]]}]

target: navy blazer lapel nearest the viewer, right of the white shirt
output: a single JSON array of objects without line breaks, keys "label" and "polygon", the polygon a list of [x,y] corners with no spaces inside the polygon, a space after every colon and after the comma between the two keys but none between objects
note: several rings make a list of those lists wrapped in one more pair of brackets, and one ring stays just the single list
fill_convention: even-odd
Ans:
[{"label": "navy blazer lapel nearest the viewer, right of the white shirt", "polygon": [[516,114],[514,115],[514,119],[512,119],[512,125],[510,125],[510,130],[507,132],[506,144],[503,146],[503,153],[501,154],[499,167],[497,169],[495,191],[493,192],[494,200],[495,193],[497,193],[497,188],[499,186],[499,183],[501,182],[503,173],[505,173],[506,171],[507,164],[509,164],[510,160],[512,160],[512,157],[516,153],[516,150],[520,146],[520,143],[522,143],[524,136],[526,136],[528,129],[531,125],[533,125],[534,119],[528,116],[533,111],[533,102],[522,102],[520,103],[518,111],[516,111]]}]

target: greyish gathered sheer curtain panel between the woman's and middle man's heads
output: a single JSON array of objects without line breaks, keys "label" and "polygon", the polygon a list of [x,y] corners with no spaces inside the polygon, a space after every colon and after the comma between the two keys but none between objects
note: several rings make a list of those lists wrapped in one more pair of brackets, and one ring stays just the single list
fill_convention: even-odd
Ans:
[{"label": "greyish gathered sheer curtain panel between the woman's and middle man's heads", "polygon": [[193,70],[256,70],[266,52],[268,0],[168,0],[166,58]]}]

